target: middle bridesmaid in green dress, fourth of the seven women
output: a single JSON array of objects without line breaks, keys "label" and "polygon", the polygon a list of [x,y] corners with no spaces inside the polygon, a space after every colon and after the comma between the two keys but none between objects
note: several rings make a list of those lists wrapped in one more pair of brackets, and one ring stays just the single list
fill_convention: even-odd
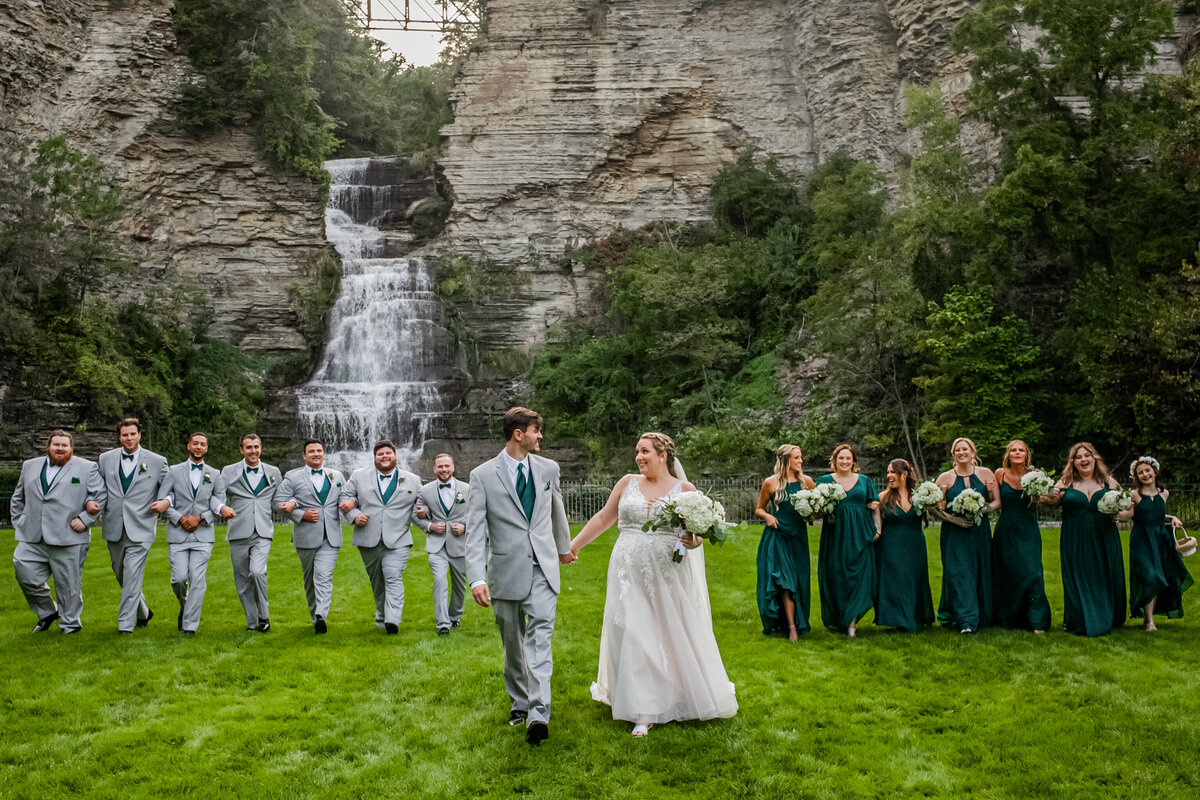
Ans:
[{"label": "middle bridesmaid in green dress, fourth of the seven women", "polygon": [[946,498],[940,505],[942,523],[942,597],[937,621],[959,633],[974,633],[992,622],[991,608],[991,522],[986,516],[973,519],[946,511],[950,501],[967,489],[974,489],[992,510],[1000,507],[996,476],[979,467],[974,443],[960,437],[950,445],[954,468],[937,476]]}]

